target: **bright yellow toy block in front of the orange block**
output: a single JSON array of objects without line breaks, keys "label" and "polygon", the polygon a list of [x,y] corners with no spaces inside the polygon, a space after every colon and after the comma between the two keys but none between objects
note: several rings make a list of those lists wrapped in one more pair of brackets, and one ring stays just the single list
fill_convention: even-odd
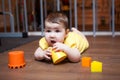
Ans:
[{"label": "bright yellow toy block in front of the orange block", "polygon": [[102,62],[92,61],[91,72],[102,72]]}]

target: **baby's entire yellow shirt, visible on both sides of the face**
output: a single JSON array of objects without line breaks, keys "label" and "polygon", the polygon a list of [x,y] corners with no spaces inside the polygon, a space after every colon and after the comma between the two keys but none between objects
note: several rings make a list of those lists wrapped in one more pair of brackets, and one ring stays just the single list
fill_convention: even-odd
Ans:
[{"label": "baby's entire yellow shirt, visible on both sides of the face", "polygon": [[[78,35],[75,32],[69,32],[68,36],[64,40],[64,44],[71,48],[78,48],[78,50],[82,53],[84,50],[86,50],[89,47],[89,43],[86,38],[83,37],[83,35]],[[47,41],[45,40],[45,37],[41,38],[39,41],[39,46],[45,50],[49,47]]]}]

